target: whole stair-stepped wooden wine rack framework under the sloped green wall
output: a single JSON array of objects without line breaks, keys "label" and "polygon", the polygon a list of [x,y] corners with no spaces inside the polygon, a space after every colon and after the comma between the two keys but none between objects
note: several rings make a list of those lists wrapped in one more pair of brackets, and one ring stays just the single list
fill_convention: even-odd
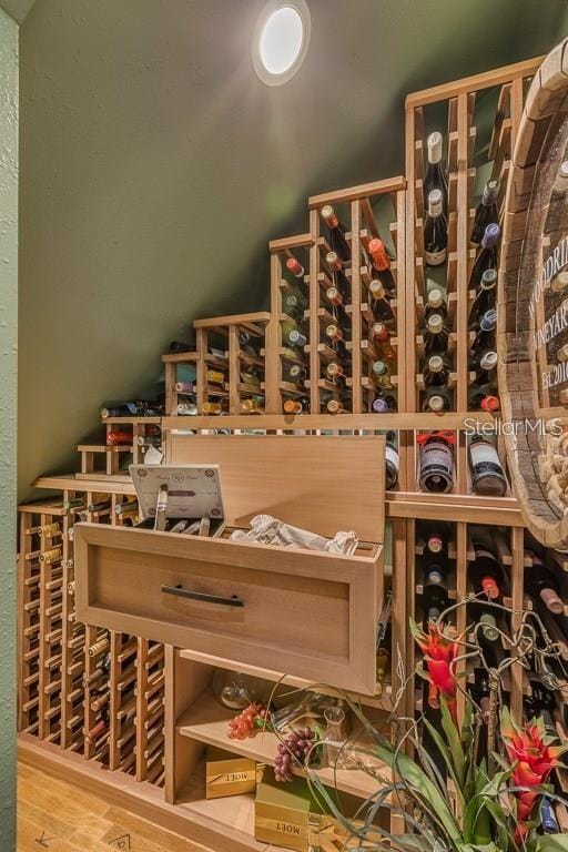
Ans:
[{"label": "whole stair-stepped wooden wine rack framework under the sloped green wall", "polygon": [[[115,526],[135,523],[134,490],[119,459],[124,456],[124,460],[141,462],[144,436],[151,438],[148,445],[158,446],[168,460],[172,437],[187,430],[291,436],[394,434],[399,474],[398,483],[386,493],[387,579],[383,589],[393,596],[388,648],[392,671],[381,696],[363,697],[369,714],[388,712],[395,703],[399,716],[414,716],[425,709],[418,679],[409,678],[402,698],[399,690],[417,662],[408,617],[417,621],[424,617],[424,569],[428,560],[424,539],[433,525],[447,529],[447,550],[440,558],[447,565],[450,604],[471,590],[473,542],[483,528],[485,534],[493,534],[504,570],[503,604],[509,607],[510,615],[500,615],[499,619],[507,630],[518,627],[521,608],[530,604],[525,579],[531,569],[532,551],[554,572],[565,608],[568,606],[568,561],[557,552],[542,551],[530,539],[510,490],[503,497],[474,494],[468,464],[469,422],[475,422],[476,428],[495,423],[493,414],[477,410],[470,400],[468,321],[474,293],[468,282],[475,251],[469,235],[481,184],[489,178],[500,181],[503,205],[524,100],[539,64],[539,59],[525,61],[408,95],[406,175],[310,197],[307,231],[270,243],[270,312],[195,321],[195,351],[162,357],[165,416],[103,418],[108,436],[125,429],[132,433],[132,442],[120,445],[121,452],[115,454],[109,453],[106,445],[81,445],[79,478],[70,475],[38,480],[38,487],[58,491],[62,499],[21,507],[20,730],[22,743],[33,758],[38,757],[38,748],[31,744],[36,740],[48,743],[50,754],[52,744],[63,753],[84,752],[85,758],[118,770],[121,779],[128,775],[125,795],[131,803],[138,801],[138,782],[149,781],[153,788],[163,783],[166,804],[144,783],[140,795],[145,812],[174,830],[191,831],[194,839],[214,842],[215,848],[231,852],[260,852],[262,848],[251,835],[250,803],[243,804],[243,812],[234,800],[222,800],[223,811],[219,803],[204,800],[200,787],[204,746],[235,751],[226,742],[225,718],[209,691],[212,667],[231,668],[231,661],[190,649],[164,649],[111,631],[108,748],[103,744],[98,749],[85,736],[94,727],[95,716],[89,690],[82,683],[95,669],[97,660],[89,658],[88,648],[99,639],[99,631],[95,626],[72,620],[70,534],[75,515],[62,507],[84,495],[87,509],[81,510],[87,511],[88,520]],[[425,145],[433,130],[444,132],[448,165],[448,255],[444,266],[434,273],[426,264],[424,245]],[[351,262],[339,258],[336,266],[331,265],[329,252],[341,252],[322,215],[328,205],[342,225],[351,254]],[[388,356],[374,339],[376,314],[369,307],[369,283],[374,280],[369,241],[377,237],[385,244],[396,287],[396,297],[388,300],[393,314],[387,322]],[[424,315],[433,286],[443,291],[450,326],[450,406],[440,414],[425,410],[424,406]],[[336,304],[329,301],[331,287],[339,291]],[[331,337],[328,328],[338,324],[338,317],[343,337]],[[292,339],[291,332],[297,333]],[[382,358],[389,362],[386,385],[373,378],[372,364]],[[339,363],[335,376],[328,375],[331,363]],[[377,388],[385,387],[388,409],[376,413],[373,400]],[[454,487],[447,494],[425,493],[419,487],[416,438],[420,433],[440,430],[454,436]],[[500,443],[498,449],[505,466]],[[98,456],[105,463],[102,470],[97,469]],[[105,503],[109,505],[89,511],[89,506]],[[122,505],[128,507],[124,513],[116,510]],[[61,535],[53,542],[43,534],[27,535],[30,527],[52,520],[61,526]],[[59,544],[61,560],[40,565],[39,554],[57,549]],[[473,604],[456,610],[459,631],[465,630],[474,610]],[[564,621],[550,627],[559,641],[562,630],[568,633],[566,615],[561,618]],[[501,652],[507,656],[514,650],[504,647]],[[474,669],[474,665],[463,667],[465,683],[470,687],[475,687]],[[267,680],[280,678],[254,667],[247,673]],[[287,682],[305,686],[294,678]],[[513,711],[520,716],[531,690],[520,666],[507,670],[501,688]],[[568,696],[568,681],[562,683],[565,693]],[[460,711],[463,703],[460,699]],[[568,739],[567,726],[562,717],[558,721],[562,741]],[[273,762],[273,743],[255,748],[248,743],[236,748],[236,752]],[[89,778],[92,780],[92,774]],[[199,783],[194,783],[195,778],[201,779]],[[130,781],[134,785],[130,787]],[[562,789],[565,784],[562,774]],[[355,774],[342,779],[338,787],[359,798],[371,792],[368,780]],[[558,819],[566,830],[568,819],[561,809]],[[246,828],[235,829],[237,824]]]}]

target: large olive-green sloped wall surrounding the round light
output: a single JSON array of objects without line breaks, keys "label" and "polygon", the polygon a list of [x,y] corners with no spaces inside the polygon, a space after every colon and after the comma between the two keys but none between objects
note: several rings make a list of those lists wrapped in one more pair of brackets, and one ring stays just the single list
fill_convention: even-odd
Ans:
[{"label": "large olive-green sloped wall surrounding the round light", "polygon": [[305,197],[404,169],[404,94],[548,50],[565,0],[308,0],[286,85],[264,0],[41,0],[21,28],[20,488],[74,464],[200,315],[261,308]]}]

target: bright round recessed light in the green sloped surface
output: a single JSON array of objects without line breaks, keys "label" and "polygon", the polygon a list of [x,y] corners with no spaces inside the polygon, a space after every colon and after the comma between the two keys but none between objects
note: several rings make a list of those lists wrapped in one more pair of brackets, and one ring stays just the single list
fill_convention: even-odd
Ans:
[{"label": "bright round recessed light in the green sloped surface", "polygon": [[268,85],[282,85],[298,70],[310,42],[310,10],[305,0],[268,3],[254,32],[253,64]]}]

